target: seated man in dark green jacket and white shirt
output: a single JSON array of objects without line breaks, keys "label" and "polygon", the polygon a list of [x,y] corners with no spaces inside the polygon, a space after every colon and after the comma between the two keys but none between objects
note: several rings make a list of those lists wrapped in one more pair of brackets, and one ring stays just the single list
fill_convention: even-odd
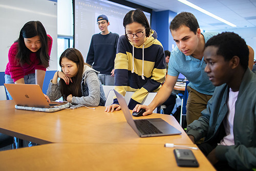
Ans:
[{"label": "seated man in dark green jacket and white shirt", "polygon": [[205,45],[205,72],[217,86],[202,116],[187,126],[195,143],[217,170],[256,168],[256,73],[239,35],[224,32]]}]

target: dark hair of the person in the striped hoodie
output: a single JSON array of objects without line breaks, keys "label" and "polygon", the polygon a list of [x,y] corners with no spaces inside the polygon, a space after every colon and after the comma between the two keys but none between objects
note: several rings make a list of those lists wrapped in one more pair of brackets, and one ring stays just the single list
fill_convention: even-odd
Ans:
[{"label": "dark hair of the person in the striped hoodie", "polygon": [[146,37],[150,36],[150,33],[151,33],[150,24],[148,23],[148,20],[141,9],[132,10],[125,14],[123,18],[124,31],[125,31],[126,25],[129,25],[133,22],[139,23],[143,27],[145,27]]}]

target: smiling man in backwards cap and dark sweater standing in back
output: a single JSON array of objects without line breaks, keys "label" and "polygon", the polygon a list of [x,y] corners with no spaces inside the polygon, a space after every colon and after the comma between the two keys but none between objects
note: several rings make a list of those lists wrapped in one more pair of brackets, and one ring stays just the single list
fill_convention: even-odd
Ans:
[{"label": "smiling man in backwards cap and dark sweater standing in back", "polygon": [[99,15],[97,25],[101,33],[94,34],[86,62],[93,69],[99,71],[99,80],[106,86],[114,86],[114,61],[119,35],[108,30],[109,19],[105,15]]}]

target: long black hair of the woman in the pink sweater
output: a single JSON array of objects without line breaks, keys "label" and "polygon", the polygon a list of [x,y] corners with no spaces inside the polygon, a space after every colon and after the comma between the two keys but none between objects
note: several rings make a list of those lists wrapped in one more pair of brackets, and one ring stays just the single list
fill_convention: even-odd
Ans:
[{"label": "long black hair of the woman in the pink sweater", "polygon": [[20,65],[24,63],[30,64],[30,53],[31,51],[26,47],[24,38],[31,38],[34,36],[39,36],[41,41],[41,48],[36,52],[39,58],[39,65],[45,68],[49,67],[50,56],[48,54],[48,41],[50,38],[46,34],[44,26],[39,21],[30,21],[26,23],[20,30],[18,42],[18,53],[16,54],[16,59],[18,59]]}]

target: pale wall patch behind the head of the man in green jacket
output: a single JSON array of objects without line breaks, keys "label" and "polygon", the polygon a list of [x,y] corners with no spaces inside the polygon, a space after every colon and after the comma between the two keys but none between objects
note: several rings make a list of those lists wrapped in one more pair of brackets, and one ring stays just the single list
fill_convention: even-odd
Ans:
[{"label": "pale wall patch behind the head of the man in green jacket", "polygon": [[227,29],[227,30],[211,30],[215,32],[229,31],[239,34],[246,44],[249,45],[254,50],[254,59],[256,59],[256,27],[244,28],[244,29]]}]

